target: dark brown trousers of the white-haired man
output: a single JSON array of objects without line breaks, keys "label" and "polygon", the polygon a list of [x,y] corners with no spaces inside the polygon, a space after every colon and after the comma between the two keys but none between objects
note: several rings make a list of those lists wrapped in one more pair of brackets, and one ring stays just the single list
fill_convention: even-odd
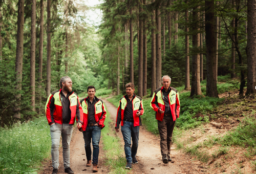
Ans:
[{"label": "dark brown trousers of the white-haired man", "polygon": [[160,134],[160,147],[162,156],[170,154],[170,146],[172,146],[172,138],[174,132],[175,122],[172,116],[164,116],[163,121],[157,121],[158,130]]}]

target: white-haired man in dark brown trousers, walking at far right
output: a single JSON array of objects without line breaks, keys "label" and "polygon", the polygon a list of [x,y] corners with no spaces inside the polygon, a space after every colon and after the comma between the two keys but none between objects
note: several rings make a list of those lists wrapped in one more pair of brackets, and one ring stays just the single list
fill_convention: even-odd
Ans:
[{"label": "white-haired man in dark brown trousers, walking at far right", "polygon": [[163,86],[157,89],[151,100],[151,107],[156,112],[158,130],[160,134],[160,147],[163,163],[172,161],[170,158],[170,146],[176,119],[180,114],[180,99],[178,91],[170,87],[170,77],[162,77]]}]

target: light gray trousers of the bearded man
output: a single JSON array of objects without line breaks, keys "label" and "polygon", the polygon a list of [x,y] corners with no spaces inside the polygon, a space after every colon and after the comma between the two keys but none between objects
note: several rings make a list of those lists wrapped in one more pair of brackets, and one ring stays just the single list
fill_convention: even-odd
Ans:
[{"label": "light gray trousers of the bearded man", "polygon": [[72,124],[58,124],[53,123],[50,126],[51,138],[52,138],[52,167],[58,169],[59,167],[59,140],[62,137],[63,147],[63,163],[64,168],[70,167],[70,141],[73,133]]}]

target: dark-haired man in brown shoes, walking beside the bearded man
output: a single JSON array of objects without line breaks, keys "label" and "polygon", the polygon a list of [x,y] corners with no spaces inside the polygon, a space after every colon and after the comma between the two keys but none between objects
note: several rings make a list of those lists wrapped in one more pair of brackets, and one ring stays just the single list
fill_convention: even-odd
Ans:
[{"label": "dark-haired man in brown shoes, walking beside the bearded man", "polygon": [[102,100],[95,97],[94,86],[88,86],[88,97],[80,100],[83,110],[84,124],[80,131],[83,131],[84,147],[86,148],[86,158],[89,167],[92,165],[91,140],[93,144],[93,172],[98,171],[99,140],[101,129],[104,127],[106,118],[105,106]]}]

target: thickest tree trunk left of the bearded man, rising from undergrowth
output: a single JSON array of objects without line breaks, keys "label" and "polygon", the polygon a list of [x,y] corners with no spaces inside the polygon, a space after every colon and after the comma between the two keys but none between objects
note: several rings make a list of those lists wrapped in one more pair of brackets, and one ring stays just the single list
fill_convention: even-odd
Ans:
[{"label": "thickest tree trunk left of the bearded man, rising from undergrowth", "polygon": [[[23,71],[23,33],[24,33],[24,0],[18,1],[18,20],[17,20],[17,47],[16,47],[16,63],[15,73],[17,80],[16,90],[22,90],[22,71]],[[13,111],[15,112],[14,117],[20,118],[20,97],[22,95],[16,95],[16,104],[14,105]]]}]

